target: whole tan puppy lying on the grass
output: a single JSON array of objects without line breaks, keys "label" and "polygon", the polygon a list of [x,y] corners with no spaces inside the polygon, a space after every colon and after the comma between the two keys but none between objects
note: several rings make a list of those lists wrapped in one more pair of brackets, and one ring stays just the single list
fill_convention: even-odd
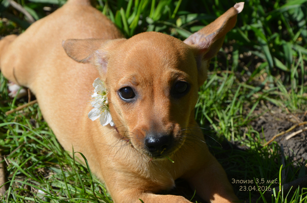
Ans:
[{"label": "whole tan puppy lying on the grass", "polygon": [[[194,120],[194,106],[209,60],[243,5],[182,42],[156,32],[123,39],[87,0],[70,0],[18,37],[0,41],[1,71],[31,89],[58,141],[86,156],[115,202],[189,202],[155,194],[179,177],[207,202],[235,201]],[[98,77],[108,89],[114,127],[87,117]]]}]

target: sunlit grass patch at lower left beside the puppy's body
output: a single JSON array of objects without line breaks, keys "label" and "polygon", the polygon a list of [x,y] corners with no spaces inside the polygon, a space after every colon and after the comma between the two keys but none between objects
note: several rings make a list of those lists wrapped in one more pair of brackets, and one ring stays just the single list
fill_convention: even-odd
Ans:
[{"label": "sunlit grass patch at lower left beside the puppy's body", "polygon": [[[6,87],[1,91],[2,98],[7,96]],[[58,144],[37,104],[4,117],[9,109],[1,107],[0,141],[2,153],[9,154],[5,161],[11,194],[3,202],[111,202],[90,169]]]}]

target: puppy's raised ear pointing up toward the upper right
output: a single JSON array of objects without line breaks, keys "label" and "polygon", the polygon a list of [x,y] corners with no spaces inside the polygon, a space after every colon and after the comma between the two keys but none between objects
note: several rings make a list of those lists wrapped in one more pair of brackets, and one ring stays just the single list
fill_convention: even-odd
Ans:
[{"label": "puppy's raised ear pointing up toward the upper right", "polygon": [[184,42],[194,48],[199,71],[199,85],[207,79],[209,62],[221,49],[224,38],[236,23],[237,14],[243,10],[244,2],[237,3],[208,26],[189,36]]}]

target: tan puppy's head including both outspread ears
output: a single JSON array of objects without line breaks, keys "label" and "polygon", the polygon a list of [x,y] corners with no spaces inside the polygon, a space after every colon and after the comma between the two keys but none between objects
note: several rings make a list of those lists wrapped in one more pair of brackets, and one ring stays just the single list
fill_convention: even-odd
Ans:
[{"label": "tan puppy's head including both outspread ears", "polygon": [[184,42],[146,32],[130,39],[70,39],[63,47],[74,60],[97,67],[120,135],[158,159],[184,144],[209,60],[242,9],[236,4]]}]

